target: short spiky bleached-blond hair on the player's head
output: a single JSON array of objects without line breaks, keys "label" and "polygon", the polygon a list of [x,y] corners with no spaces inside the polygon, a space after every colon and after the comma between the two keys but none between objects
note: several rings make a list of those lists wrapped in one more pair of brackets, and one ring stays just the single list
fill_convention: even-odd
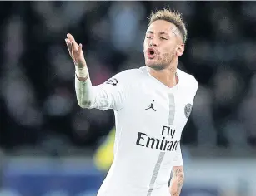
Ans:
[{"label": "short spiky bleached-blond hair on the player's head", "polygon": [[158,10],[157,12],[152,12],[151,15],[148,17],[148,26],[158,20],[173,23],[178,28],[178,31],[181,33],[183,37],[183,43],[187,41],[188,31],[185,23],[183,22],[181,13],[179,13],[178,11],[172,12],[169,8],[164,8],[162,10]]}]

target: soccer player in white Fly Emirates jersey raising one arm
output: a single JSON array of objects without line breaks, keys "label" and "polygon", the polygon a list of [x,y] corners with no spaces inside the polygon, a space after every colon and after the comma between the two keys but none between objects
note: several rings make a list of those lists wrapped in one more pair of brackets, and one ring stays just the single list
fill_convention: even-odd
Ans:
[{"label": "soccer player in white Fly Emirates jersey raising one arm", "polygon": [[98,196],[180,194],[180,139],[198,89],[195,78],[177,68],[187,33],[180,13],[152,13],[143,45],[145,66],[122,71],[98,86],[92,86],[82,44],[67,35],[78,105],[112,109],[115,115],[113,164]]}]

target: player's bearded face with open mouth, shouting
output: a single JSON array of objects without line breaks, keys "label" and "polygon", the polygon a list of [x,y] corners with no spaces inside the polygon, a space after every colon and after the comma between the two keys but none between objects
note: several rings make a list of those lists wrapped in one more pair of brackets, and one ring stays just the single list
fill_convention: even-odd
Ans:
[{"label": "player's bearded face with open mouth, shouting", "polygon": [[173,23],[158,20],[148,27],[143,50],[146,66],[163,70],[183,54],[183,49],[182,37]]}]

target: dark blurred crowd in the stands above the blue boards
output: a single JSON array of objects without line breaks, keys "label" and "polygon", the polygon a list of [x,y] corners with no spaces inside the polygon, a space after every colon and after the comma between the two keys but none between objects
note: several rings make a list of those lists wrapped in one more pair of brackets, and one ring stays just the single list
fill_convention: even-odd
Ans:
[{"label": "dark blurred crowd in the stands above the blue boards", "polygon": [[[82,110],[64,38],[83,44],[93,85],[144,66],[151,11],[170,7],[188,26],[178,67],[199,83],[183,145],[256,146],[256,2],[1,2],[0,145],[95,149],[113,111]],[[133,79],[131,78],[131,81]]]}]

